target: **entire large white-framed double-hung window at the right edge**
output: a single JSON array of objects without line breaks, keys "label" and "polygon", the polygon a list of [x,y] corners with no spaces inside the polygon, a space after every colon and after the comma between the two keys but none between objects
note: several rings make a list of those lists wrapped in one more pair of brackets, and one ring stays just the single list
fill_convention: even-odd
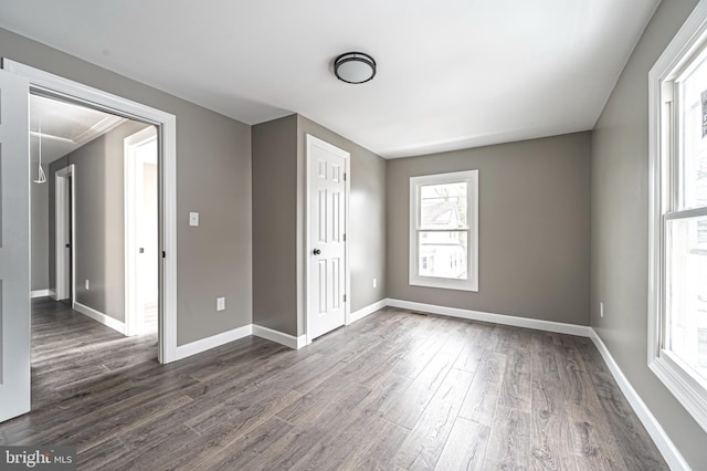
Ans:
[{"label": "entire large white-framed double-hung window at the right edge", "polygon": [[648,366],[707,430],[707,7],[650,80]]}]

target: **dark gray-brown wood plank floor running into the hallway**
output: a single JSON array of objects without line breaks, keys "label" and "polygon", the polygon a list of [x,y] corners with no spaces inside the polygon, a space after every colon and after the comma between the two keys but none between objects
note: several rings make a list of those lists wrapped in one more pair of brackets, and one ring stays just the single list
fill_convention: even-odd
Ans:
[{"label": "dark gray-brown wood plank floor running into the hallway", "polygon": [[159,365],[155,335],[34,307],[33,411],[0,443],[80,469],[667,469],[587,338],[389,308]]}]

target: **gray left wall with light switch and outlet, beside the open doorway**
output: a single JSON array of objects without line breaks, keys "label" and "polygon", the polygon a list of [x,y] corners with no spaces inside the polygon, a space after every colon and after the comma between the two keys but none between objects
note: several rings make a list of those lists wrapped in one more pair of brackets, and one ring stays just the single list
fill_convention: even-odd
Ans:
[{"label": "gray left wall with light switch and outlet, beside the open doorway", "polygon": [[0,56],[177,116],[178,345],[250,324],[251,127],[2,29]]}]

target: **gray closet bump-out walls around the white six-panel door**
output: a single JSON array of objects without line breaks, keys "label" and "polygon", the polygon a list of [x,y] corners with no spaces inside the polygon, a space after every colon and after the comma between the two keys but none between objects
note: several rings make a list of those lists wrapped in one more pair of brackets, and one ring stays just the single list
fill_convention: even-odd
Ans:
[{"label": "gray closet bump-out walls around the white six-panel door", "polygon": [[307,134],[351,155],[351,312],[386,297],[386,160],[304,116],[253,126],[253,322],[297,336],[305,333]]}]

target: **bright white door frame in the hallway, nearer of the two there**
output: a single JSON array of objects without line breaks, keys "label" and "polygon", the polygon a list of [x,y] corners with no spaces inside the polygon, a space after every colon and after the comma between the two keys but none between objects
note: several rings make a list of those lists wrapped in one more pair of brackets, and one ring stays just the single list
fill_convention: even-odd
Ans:
[{"label": "bright white door frame in the hallway, nearer of the two there", "polygon": [[[138,241],[137,241],[137,196],[143,193],[138,190],[138,179],[143,181],[143,168],[136,155],[136,149],[149,142],[157,139],[157,129],[148,126],[123,139],[123,154],[125,164],[124,197],[125,197],[125,335],[138,335],[145,317],[145,305],[139,305],[140,291],[138,268]],[[159,164],[159,163],[158,163]],[[159,171],[159,167],[158,167]],[[157,262],[154,260],[154,262]],[[140,315],[140,312],[143,313]]]}]

